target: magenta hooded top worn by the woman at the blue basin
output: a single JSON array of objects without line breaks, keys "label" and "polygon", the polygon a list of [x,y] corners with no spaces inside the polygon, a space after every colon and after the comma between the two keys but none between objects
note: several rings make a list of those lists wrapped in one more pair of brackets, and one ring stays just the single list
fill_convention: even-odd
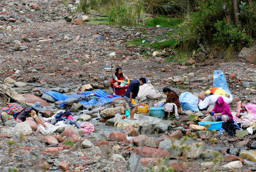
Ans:
[{"label": "magenta hooded top worn by the woman at the blue basin", "polygon": [[229,119],[233,119],[233,115],[229,109],[229,105],[223,100],[222,97],[218,97],[216,102],[218,104],[214,105],[213,112],[214,113],[221,113],[222,115],[228,115]]}]

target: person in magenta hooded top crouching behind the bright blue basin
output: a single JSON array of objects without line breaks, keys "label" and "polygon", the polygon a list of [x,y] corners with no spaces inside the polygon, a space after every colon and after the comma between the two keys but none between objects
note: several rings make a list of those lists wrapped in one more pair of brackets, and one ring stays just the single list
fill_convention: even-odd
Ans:
[{"label": "person in magenta hooded top crouching behind the bright blue basin", "polygon": [[214,122],[215,121],[227,122],[233,119],[232,113],[229,109],[229,105],[223,100],[222,97],[217,98],[217,101],[210,115],[212,116],[212,120]]}]

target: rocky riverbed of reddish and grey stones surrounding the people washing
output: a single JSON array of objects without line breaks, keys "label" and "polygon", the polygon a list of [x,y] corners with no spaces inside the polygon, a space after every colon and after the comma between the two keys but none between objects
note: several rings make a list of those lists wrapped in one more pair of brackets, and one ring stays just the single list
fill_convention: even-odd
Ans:
[{"label": "rocky riverbed of reddish and grey stones surrounding the people washing", "polygon": [[[145,36],[139,27],[89,24],[80,21],[81,14],[69,13],[73,6],[75,3],[67,7],[59,0],[0,2],[0,84],[5,83],[20,95],[43,98],[48,103],[44,109],[56,113],[59,106],[45,97],[45,91],[70,94],[91,84],[93,89],[112,93],[109,82],[113,71],[104,70],[104,62],[109,61],[112,68],[122,67],[130,79],[146,77],[160,92],[171,87],[179,95],[189,91],[197,96],[212,87],[213,72],[222,70],[235,97],[230,109],[236,111],[239,100],[255,103],[255,65],[247,63],[246,58],[165,63],[170,50],[148,57],[143,52],[152,54],[154,50],[127,46],[126,42],[138,37],[152,42],[151,36],[171,32],[170,28],[146,29],[149,36]],[[158,101],[143,103],[152,106]],[[189,126],[188,111],[179,120],[141,123],[136,130],[118,128],[114,119],[100,115],[102,108],[114,106],[126,107],[119,100],[114,105],[72,112],[74,118],[94,125],[95,131],[88,136],[73,127],[43,135],[27,122],[20,126],[22,129],[13,127],[12,122],[1,125],[0,171],[147,171],[153,166],[163,171],[168,166],[176,171],[256,170],[255,135],[244,131],[236,137],[209,131],[183,133],[177,127]],[[208,113],[202,111],[200,117]],[[19,135],[20,130],[27,133]]]}]

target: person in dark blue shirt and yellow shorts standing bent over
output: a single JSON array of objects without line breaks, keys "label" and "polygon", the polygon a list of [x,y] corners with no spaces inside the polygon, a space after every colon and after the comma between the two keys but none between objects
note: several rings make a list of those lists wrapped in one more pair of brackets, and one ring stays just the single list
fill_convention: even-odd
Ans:
[{"label": "person in dark blue shirt and yellow shorts standing bent over", "polygon": [[139,92],[139,85],[146,84],[146,78],[134,79],[126,89],[124,98],[130,107],[130,119],[134,119],[134,114],[138,109],[138,101],[135,99]]}]

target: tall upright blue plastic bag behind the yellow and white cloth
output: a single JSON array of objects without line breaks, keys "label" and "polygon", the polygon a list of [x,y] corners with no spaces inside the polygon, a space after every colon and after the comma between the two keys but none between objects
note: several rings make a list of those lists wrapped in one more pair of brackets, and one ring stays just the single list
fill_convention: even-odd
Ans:
[{"label": "tall upright blue plastic bag behind the yellow and white cloth", "polygon": [[228,83],[226,83],[226,78],[221,70],[213,72],[213,87],[222,88],[232,96],[228,88]]}]

